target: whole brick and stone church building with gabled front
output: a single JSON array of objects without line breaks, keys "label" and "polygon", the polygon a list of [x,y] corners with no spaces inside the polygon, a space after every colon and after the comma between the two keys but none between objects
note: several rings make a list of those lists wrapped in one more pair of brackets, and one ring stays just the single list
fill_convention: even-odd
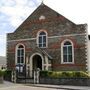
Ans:
[{"label": "whole brick and stone church building with gabled front", "polygon": [[41,4],[13,33],[7,34],[7,68],[33,71],[87,71],[86,24],[75,24]]}]

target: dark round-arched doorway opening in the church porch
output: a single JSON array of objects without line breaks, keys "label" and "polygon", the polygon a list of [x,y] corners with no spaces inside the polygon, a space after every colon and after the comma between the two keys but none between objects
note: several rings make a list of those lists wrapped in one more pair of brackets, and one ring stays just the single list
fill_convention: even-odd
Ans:
[{"label": "dark round-arched doorway opening in the church porch", "polygon": [[37,68],[39,68],[40,70],[42,70],[42,58],[39,55],[35,55],[32,58],[32,69],[36,70]]}]

